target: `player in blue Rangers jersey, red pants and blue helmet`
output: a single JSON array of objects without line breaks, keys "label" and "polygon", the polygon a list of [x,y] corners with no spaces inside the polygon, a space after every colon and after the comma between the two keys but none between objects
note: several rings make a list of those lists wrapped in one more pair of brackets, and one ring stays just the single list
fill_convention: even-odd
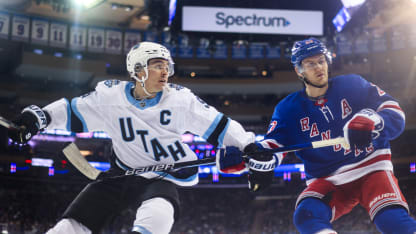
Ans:
[{"label": "player in blue Rangers jersey, red pants and blue helmet", "polygon": [[[264,140],[250,147],[270,149],[340,136],[350,146],[296,152],[304,162],[308,185],[296,202],[296,228],[302,234],[336,233],[331,222],[360,204],[382,233],[416,233],[416,221],[408,213],[391,162],[389,141],[399,136],[405,125],[398,102],[359,75],[329,79],[331,56],[315,38],[295,42],[291,62],[305,88],[276,106]],[[238,150],[228,154],[238,154]],[[263,161],[276,158],[280,164],[283,157],[269,156]],[[227,157],[223,158],[220,169],[233,168]],[[267,187],[272,173],[256,173],[264,174],[256,182],[257,189]]]}]

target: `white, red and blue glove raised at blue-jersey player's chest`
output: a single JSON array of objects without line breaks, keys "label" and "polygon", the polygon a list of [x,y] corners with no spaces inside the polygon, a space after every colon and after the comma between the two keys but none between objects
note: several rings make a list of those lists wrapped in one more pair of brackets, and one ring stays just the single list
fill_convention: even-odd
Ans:
[{"label": "white, red and blue glove raised at blue-jersey player's chest", "polygon": [[384,127],[383,118],[371,109],[362,109],[344,126],[344,138],[352,150],[364,149]]}]

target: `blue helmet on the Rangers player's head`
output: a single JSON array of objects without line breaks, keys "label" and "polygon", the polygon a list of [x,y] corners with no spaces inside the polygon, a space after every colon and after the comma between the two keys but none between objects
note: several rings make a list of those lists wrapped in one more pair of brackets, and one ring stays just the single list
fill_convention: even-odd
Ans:
[{"label": "blue helmet on the Rangers player's head", "polygon": [[318,54],[325,55],[329,64],[332,62],[328,49],[320,40],[311,37],[303,41],[296,41],[292,47],[291,62],[293,66],[300,68],[302,60]]}]

